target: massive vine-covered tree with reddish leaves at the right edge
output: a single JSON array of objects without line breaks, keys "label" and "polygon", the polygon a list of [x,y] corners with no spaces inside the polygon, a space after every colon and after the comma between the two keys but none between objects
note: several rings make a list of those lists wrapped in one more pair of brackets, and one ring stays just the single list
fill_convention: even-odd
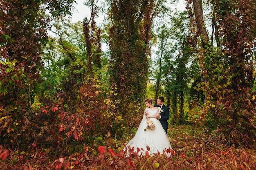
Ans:
[{"label": "massive vine-covered tree with reddish leaves at the right edge", "polygon": [[234,146],[255,142],[256,127],[253,53],[256,45],[256,2],[249,0],[214,0],[213,18],[220,37],[214,48],[205,34],[202,2],[193,0],[195,20],[201,35],[200,64],[205,77],[210,113],[220,124],[227,140]]}]

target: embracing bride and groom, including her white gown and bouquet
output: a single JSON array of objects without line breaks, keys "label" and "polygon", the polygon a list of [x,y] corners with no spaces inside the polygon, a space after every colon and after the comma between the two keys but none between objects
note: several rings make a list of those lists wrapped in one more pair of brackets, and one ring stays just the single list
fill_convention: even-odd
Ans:
[{"label": "embracing bride and groom, including her white gown and bouquet", "polygon": [[[126,144],[127,155],[130,151],[143,156],[148,152],[153,156],[158,152],[171,157],[171,144],[167,137],[169,108],[165,106],[164,97],[158,97],[153,106],[153,99],[144,100],[146,108],[135,136]],[[173,150],[172,150],[173,151]]]}]

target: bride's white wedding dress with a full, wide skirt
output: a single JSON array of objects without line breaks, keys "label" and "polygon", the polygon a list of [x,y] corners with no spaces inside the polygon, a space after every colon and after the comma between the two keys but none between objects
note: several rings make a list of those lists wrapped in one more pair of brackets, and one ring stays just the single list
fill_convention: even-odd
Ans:
[{"label": "bride's white wedding dress with a full, wide skirt", "polygon": [[130,155],[128,146],[130,146],[131,149],[134,148],[133,152],[137,152],[137,150],[139,149],[139,156],[145,155],[148,146],[150,148],[150,150],[148,150],[148,154],[151,156],[153,156],[157,152],[159,152],[160,154],[163,154],[164,152],[166,156],[171,157],[171,153],[168,150],[172,149],[170,141],[162,127],[162,124],[158,119],[150,117],[150,120],[152,120],[155,123],[155,129],[148,129],[144,131],[144,129],[147,127],[147,119],[145,115],[146,110],[148,111],[148,115],[150,117],[150,115],[157,115],[158,108],[146,108],[144,110],[143,119],[139,124],[135,136],[128,142],[128,144],[124,148],[127,148],[126,156],[129,157]]}]

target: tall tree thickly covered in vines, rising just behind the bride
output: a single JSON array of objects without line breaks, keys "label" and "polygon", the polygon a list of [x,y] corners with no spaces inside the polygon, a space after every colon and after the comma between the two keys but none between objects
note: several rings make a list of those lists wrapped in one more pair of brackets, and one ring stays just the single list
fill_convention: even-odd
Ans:
[{"label": "tall tree thickly covered in vines, rising just behind the bride", "polygon": [[109,0],[110,84],[120,113],[126,105],[144,99],[148,76],[148,54],[154,0]]}]

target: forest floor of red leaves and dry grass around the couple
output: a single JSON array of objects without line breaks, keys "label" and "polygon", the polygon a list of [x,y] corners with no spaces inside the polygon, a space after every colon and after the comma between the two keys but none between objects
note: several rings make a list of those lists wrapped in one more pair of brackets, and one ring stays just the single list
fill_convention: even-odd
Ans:
[{"label": "forest floor of red leaves and dry grass around the couple", "polygon": [[0,146],[0,170],[256,170],[255,148],[223,144],[218,130],[210,132],[204,126],[171,125],[168,138],[175,151],[172,158],[136,154],[125,157],[121,148],[133,136],[124,136],[126,139],[118,141],[108,134],[90,146],[81,144],[79,152],[63,151],[58,156],[54,148],[12,151]]}]

